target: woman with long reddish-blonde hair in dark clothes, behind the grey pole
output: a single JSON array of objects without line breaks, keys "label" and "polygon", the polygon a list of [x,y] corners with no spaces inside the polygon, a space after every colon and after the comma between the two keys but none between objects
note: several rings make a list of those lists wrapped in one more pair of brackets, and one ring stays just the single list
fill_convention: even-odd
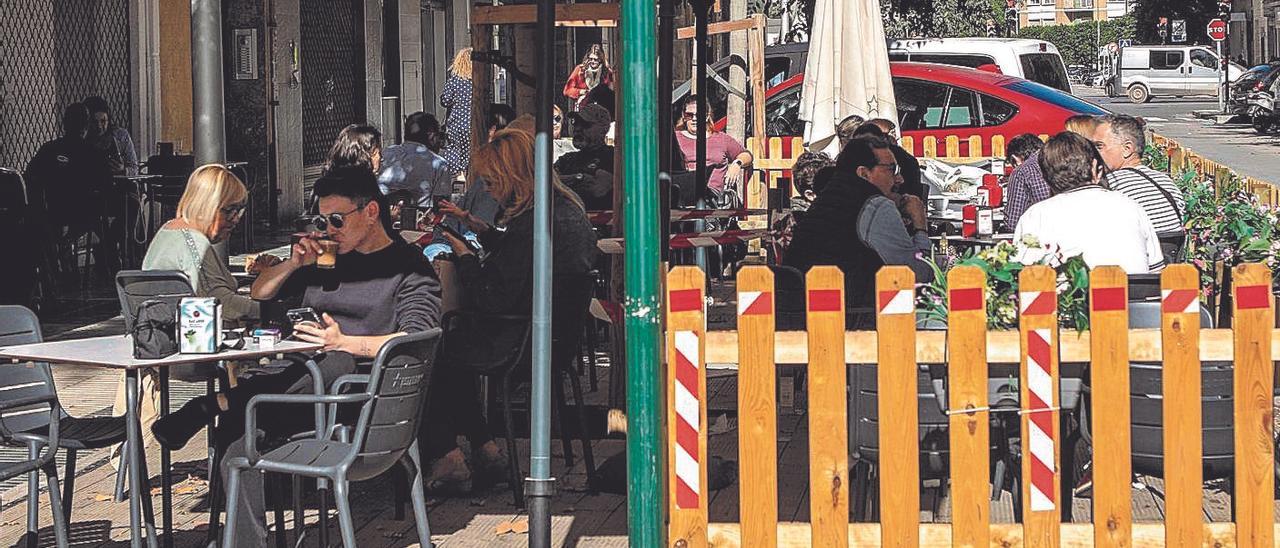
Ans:
[{"label": "woman with long reddish-blonde hair in dark clothes, behind the grey pole", "polygon": [[[480,234],[486,250],[484,262],[452,236],[454,268],[462,286],[462,309],[483,314],[529,315],[534,296],[534,138],[520,129],[503,129],[489,143],[476,150],[475,174],[485,181],[489,193],[504,204],[494,229],[476,222],[461,210],[447,210],[462,216]],[[553,275],[582,274],[595,262],[595,232],[577,195],[558,181],[552,191]],[[465,435],[472,447],[472,458],[485,479],[506,478],[506,455],[499,449],[484,419],[475,391],[475,374],[485,351],[511,348],[524,333],[476,325],[449,332],[442,344],[431,382],[428,384],[426,411],[431,420],[422,423],[420,447],[425,462],[433,462],[428,474],[428,490],[456,493],[466,490],[472,479],[471,469],[457,446]],[[515,335],[515,338],[511,338]]]}]

